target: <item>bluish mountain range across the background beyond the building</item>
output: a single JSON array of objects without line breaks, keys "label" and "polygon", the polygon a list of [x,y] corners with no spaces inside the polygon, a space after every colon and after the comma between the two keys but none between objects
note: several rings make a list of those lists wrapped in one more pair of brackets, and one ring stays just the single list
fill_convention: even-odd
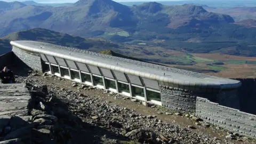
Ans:
[{"label": "bluish mountain range across the background beyond the building", "polygon": [[111,0],[80,0],[70,6],[5,6],[0,36],[44,28],[80,37],[189,53],[255,56],[256,28],[237,25],[230,15],[193,4],[156,2],[126,6]]}]

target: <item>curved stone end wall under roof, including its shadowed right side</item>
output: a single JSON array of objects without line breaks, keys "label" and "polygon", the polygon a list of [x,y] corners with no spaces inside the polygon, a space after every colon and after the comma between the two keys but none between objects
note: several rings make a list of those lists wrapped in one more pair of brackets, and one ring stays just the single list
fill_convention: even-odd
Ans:
[{"label": "curved stone end wall under roof, including its shadowed right side", "polygon": [[202,93],[161,85],[161,101],[166,108],[195,111],[196,97],[206,98],[222,106],[240,108],[237,89]]}]

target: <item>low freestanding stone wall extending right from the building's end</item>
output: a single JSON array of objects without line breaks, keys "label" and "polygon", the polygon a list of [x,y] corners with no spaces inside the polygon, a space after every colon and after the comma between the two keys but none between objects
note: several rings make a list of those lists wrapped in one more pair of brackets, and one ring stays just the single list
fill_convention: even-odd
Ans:
[{"label": "low freestanding stone wall extending right from the building's end", "polygon": [[196,116],[211,124],[256,138],[256,115],[221,106],[205,98],[196,98]]}]

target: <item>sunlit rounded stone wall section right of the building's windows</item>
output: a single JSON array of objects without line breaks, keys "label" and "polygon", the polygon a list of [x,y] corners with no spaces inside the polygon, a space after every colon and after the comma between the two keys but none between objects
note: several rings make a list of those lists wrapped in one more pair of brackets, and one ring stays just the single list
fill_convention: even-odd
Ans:
[{"label": "sunlit rounded stone wall section right of the building's windows", "polygon": [[195,111],[196,96],[194,92],[175,87],[161,87],[162,106],[182,111]]}]

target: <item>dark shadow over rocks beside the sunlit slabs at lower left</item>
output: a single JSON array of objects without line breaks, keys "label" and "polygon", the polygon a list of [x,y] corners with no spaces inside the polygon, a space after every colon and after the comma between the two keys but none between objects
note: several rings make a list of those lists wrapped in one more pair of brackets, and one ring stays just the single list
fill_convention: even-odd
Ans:
[{"label": "dark shadow over rocks beside the sunlit slabs at lower left", "polygon": [[[48,94],[47,86],[27,84],[32,97],[28,105],[31,116],[30,140],[34,143],[105,143],[106,140],[129,141],[127,137],[103,129],[100,126],[85,123],[70,113],[68,106]],[[26,143],[27,141],[25,141]]]}]

